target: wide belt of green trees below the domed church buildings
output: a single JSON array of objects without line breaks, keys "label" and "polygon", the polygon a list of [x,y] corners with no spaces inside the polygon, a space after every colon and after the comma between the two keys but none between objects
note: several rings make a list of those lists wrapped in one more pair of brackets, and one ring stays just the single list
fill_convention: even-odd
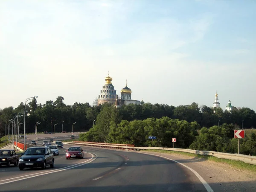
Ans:
[{"label": "wide belt of green trees below the domed church buildings", "polygon": [[[177,139],[175,147],[198,150],[212,150],[235,153],[237,140],[233,139],[234,129],[253,129],[256,127],[256,113],[250,108],[234,108],[233,111],[212,109],[206,105],[163,105],[145,103],[143,105],[125,105],[120,108],[105,103],[91,106],[89,103],[66,105],[64,98],[58,96],[53,102],[38,104],[36,98],[26,105],[26,132],[88,131],[81,134],[81,140],[128,143],[136,146],[151,146],[148,136],[156,136],[154,146],[172,147],[172,138]],[[215,113],[214,113],[215,111]],[[6,127],[12,127],[12,118],[24,112],[21,102],[16,108],[0,110],[0,136],[5,135]],[[24,114],[23,114],[24,115]],[[18,118],[23,123],[23,116]],[[10,121],[11,120],[11,121]],[[62,127],[63,125],[63,127]],[[7,131],[8,132],[8,131]],[[20,125],[20,134],[23,125]],[[241,140],[242,154],[256,154],[256,136],[246,134]]]}]

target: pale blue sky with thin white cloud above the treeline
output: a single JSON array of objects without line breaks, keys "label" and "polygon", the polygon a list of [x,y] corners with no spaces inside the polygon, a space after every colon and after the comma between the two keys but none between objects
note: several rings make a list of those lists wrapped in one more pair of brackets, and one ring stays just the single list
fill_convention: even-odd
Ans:
[{"label": "pale blue sky with thin white cloud above the treeline", "polygon": [[152,104],[256,111],[255,0],[1,0],[0,108],[92,105],[113,78]]}]

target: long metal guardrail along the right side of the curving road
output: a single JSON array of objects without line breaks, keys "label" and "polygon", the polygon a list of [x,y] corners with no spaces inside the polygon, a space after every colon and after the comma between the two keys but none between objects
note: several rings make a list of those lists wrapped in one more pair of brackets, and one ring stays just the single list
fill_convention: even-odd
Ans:
[{"label": "long metal guardrail along the right side of the curving road", "polygon": [[121,150],[132,150],[132,151],[140,151],[147,149],[156,149],[156,150],[167,150],[167,151],[180,151],[185,153],[192,154],[200,154],[200,155],[210,155],[213,157],[217,157],[220,159],[229,159],[235,161],[242,161],[244,163],[256,165],[256,157],[250,155],[243,154],[230,154],[230,153],[221,153],[216,151],[198,151],[192,149],[184,149],[184,148],[164,148],[164,147],[126,147],[126,146],[116,146],[116,145],[101,145],[101,144],[92,144],[92,143],[74,143],[74,142],[64,142],[63,144],[67,145],[82,145],[82,146],[90,146],[90,147],[100,147],[100,148],[113,148],[113,149],[121,149]]}]

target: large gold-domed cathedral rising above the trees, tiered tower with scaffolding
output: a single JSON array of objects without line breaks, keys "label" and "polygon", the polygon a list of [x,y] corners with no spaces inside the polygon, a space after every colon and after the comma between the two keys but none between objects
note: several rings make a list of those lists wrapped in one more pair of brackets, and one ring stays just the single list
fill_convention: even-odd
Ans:
[{"label": "large gold-domed cathedral rising above the trees, tiered tower with scaffolding", "polygon": [[[131,99],[131,89],[127,87],[127,81],[126,86],[122,88],[120,97],[116,94],[115,87],[112,84],[113,79],[109,76],[105,78],[105,84],[102,87],[102,90],[100,90],[100,95],[98,96],[98,105],[103,104],[105,102],[111,103],[116,106],[116,108],[122,106],[122,105],[129,105],[131,103],[135,105],[143,105],[144,102],[140,102],[138,100],[132,100]],[[96,103],[96,102],[95,102]]]}]

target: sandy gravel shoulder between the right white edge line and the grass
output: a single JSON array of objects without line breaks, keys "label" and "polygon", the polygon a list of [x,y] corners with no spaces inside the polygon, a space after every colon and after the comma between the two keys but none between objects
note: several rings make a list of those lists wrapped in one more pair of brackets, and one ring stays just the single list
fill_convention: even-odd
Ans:
[{"label": "sandy gravel shoulder between the right white edge line and the grass", "polygon": [[227,163],[216,163],[181,154],[164,154],[149,151],[140,151],[140,153],[160,155],[189,166],[198,172],[214,191],[256,191],[256,173],[234,168]]}]

